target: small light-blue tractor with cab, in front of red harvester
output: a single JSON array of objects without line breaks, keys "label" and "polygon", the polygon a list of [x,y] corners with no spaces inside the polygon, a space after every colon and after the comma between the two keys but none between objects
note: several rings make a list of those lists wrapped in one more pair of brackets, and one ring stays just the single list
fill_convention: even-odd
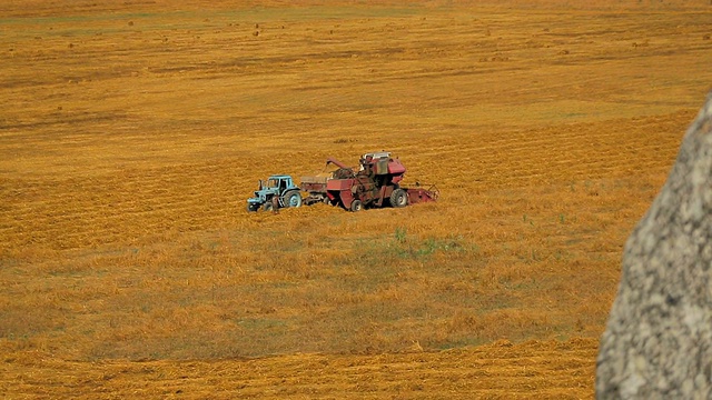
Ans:
[{"label": "small light-blue tractor with cab, in front of red harvester", "polygon": [[288,207],[301,207],[301,193],[299,187],[287,174],[271,176],[266,182],[260,179],[255,197],[247,199],[249,212],[260,208],[270,211]]}]

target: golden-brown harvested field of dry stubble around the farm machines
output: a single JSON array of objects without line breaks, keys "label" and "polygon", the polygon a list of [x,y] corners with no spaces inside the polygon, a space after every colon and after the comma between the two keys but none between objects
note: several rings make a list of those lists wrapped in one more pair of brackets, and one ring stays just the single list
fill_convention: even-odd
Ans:
[{"label": "golden-brown harvested field of dry stubble around the farm machines", "polygon": [[[0,394],[590,398],[692,1],[7,1]],[[388,150],[437,203],[247,213]]]}]

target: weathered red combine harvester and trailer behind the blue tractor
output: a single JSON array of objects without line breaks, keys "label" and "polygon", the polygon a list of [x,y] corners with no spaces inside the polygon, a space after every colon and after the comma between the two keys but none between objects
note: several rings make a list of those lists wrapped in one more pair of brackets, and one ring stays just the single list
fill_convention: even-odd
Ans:
[{"label": "weathered red combine harvester and trailer behind the blue tractor", "polygon": [[334,164],[338,169],[329,176],[301,178],[300,189],[308,193],[304,199],[307,206],[326,202],[346,210],[359,211],[363,208],[399,208],[435,201],[439,196],[435,186],[425,189],[416,183],[416,188],[402,188],[405,166],[397,158],[392,158],[389,152],[364,154],[358,169],[332,158],[326,164]]}]

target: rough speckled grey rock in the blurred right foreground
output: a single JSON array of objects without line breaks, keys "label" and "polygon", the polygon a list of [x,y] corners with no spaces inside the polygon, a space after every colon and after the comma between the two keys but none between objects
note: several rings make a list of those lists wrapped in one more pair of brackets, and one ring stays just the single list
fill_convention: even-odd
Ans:
[{"label": "rough speckled grey rock in the blurred right foreground", "polygon": [[625,243],[599,399],[712,399],[712,93]]}]

